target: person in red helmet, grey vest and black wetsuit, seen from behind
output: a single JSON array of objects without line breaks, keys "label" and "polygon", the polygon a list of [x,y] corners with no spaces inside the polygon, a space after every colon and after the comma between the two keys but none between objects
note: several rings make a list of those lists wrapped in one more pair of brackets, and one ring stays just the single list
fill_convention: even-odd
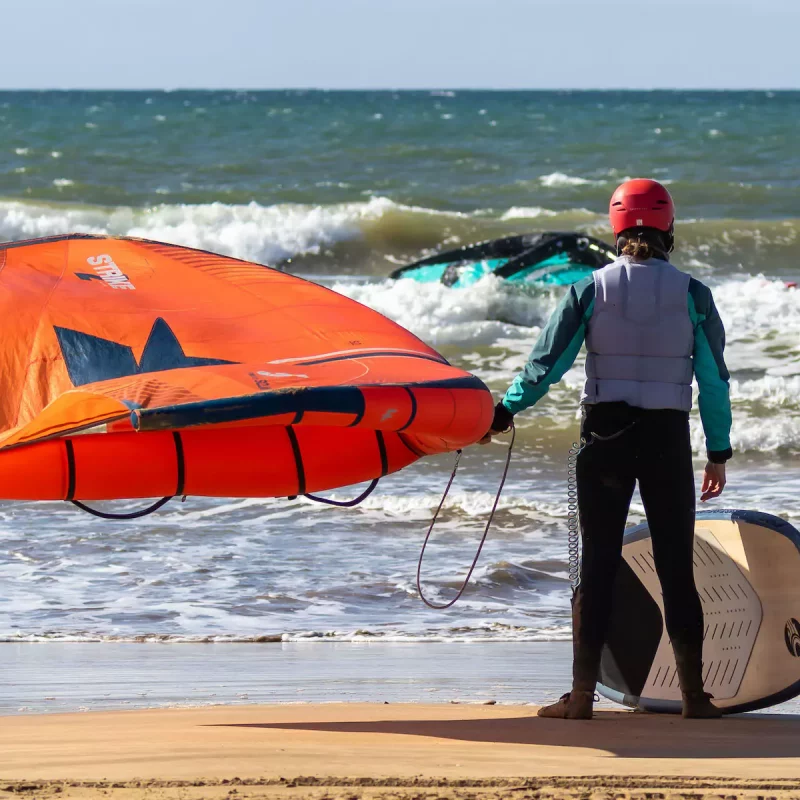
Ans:
[{"label": "person in red helmet, grey vest and black wetsuit, seen from behind", "polygon": [[623,183],[609,217],[617,260],[571,286],[482,440],[541,400],[586,341],[576,464],[583,556],[572,600],[572,690],[539,716],[592,716],[613,586],[636,482],[650,528],[675,652],[684,717],[718,717],[703,688],[703,611],[694,583],[695,486],[689,438],[692,377],[706,436],[701,500],[725,487],[731,457],[725,332],[711,291],[669,263],[675,208],[653,180]]}]

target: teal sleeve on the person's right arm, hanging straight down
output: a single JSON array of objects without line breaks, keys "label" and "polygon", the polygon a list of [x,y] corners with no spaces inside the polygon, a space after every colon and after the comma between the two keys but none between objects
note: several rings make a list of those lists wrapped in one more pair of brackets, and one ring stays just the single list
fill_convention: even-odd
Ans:
[{"label": "teal sleeve on the person's right arm, hanging straight down", "polygon": [[694,326],[694,374],[700,390],[698,405],[711,461],[724,463],[731,450],[730,374],[725,365],[725,328],[711,290],[689,282],[689,316]]}]

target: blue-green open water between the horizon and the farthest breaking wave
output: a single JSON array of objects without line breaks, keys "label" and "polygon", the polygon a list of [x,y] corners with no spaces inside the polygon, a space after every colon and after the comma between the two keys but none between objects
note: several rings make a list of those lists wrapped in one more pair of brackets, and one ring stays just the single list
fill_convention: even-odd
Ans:
[{"label": "blue-green open water between the horizon and the farthest breaking wave", "polygon": [[683,217],[776,219],[797,212],[798,124],[798,92],[5,92],[0,193],[602,210],[608,182],[660,174]]}]

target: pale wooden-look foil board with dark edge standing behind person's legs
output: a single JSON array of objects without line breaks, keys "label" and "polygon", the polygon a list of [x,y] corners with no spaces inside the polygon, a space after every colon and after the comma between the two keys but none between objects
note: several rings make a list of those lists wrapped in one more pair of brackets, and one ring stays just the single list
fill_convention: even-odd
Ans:
[{"label": "pale wooden-look foil board with dark edge standing behind person's legs", "polygon": [[[679,713],[680,686],[646,524],[626,532],[598,692]],[[703,604],[705,690],[726,714],[800,694],[800,532],[755,511],[697,514],[694,573]]]}]

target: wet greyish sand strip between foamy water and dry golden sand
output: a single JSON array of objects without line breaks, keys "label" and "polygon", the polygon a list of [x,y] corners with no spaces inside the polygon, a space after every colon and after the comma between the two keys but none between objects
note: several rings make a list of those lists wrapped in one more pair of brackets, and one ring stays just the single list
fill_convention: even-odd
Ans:
[{"label": "wet greyish sand strip between foamy water and dry golden sand", "polygon": [[[0,722],[254,704],[524,709],[569,688],[571,657],[571,642],[4,643]],[[759,712],[787,713],[800,715],[800,698]]]}]

